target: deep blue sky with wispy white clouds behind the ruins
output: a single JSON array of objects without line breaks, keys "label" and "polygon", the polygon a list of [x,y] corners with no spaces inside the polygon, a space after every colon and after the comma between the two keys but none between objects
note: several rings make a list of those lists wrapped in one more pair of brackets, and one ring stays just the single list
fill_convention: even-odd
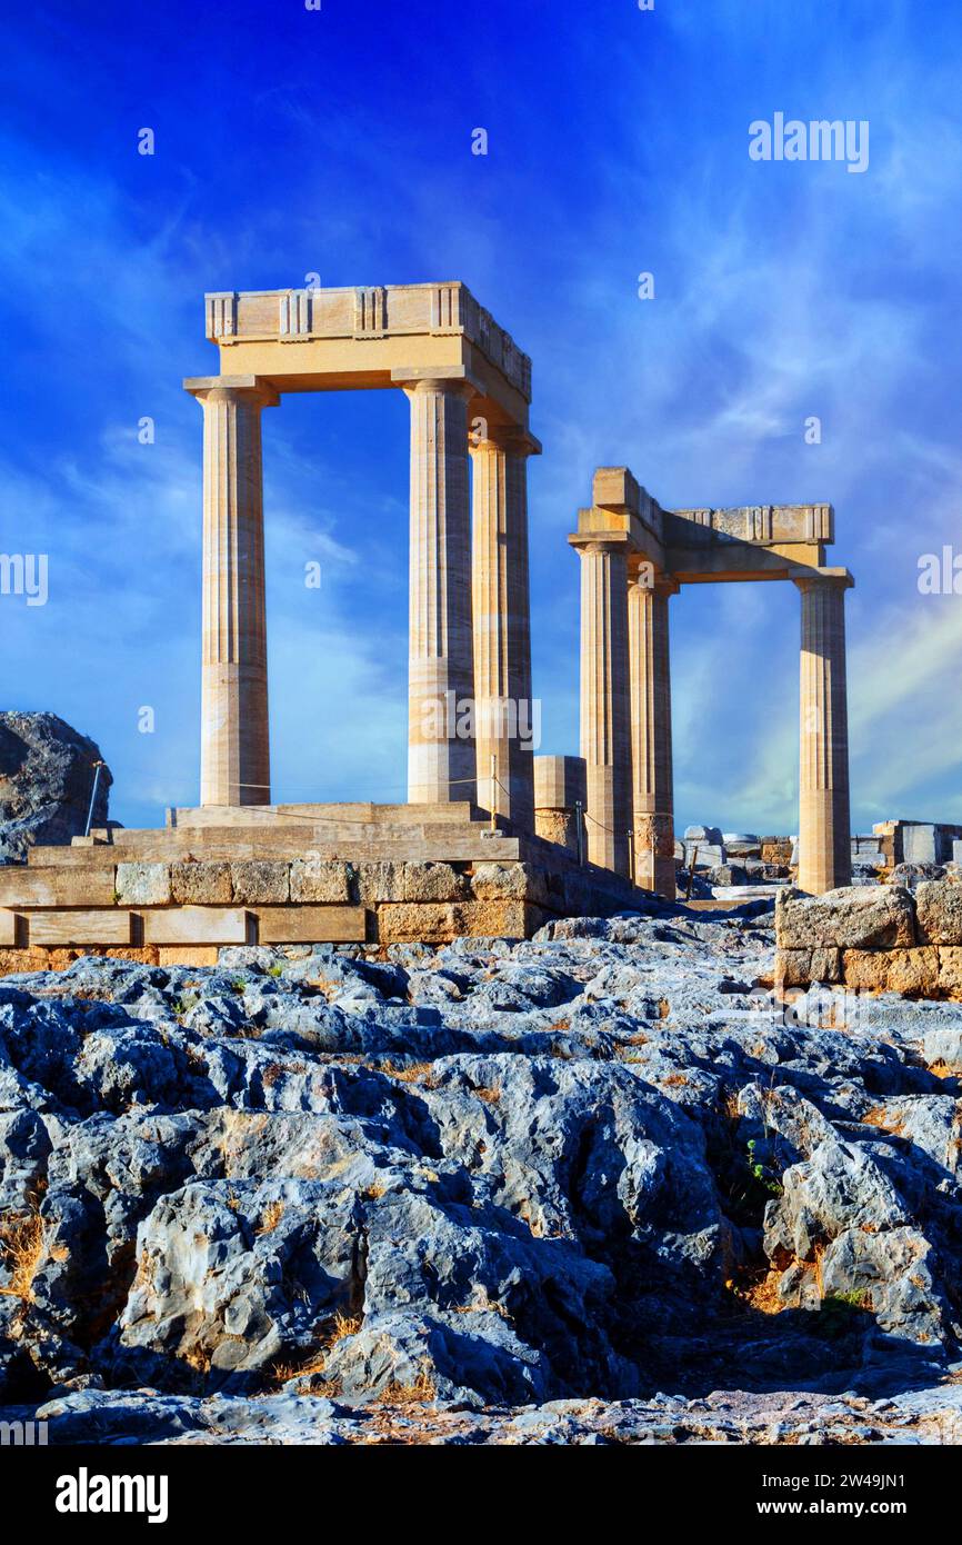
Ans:
[{"label": "deep blue sky with wispy white clouds behind the ruins", "polygon": [[[962,820],[962,598],[917,586],[962,553],[959,8],[63,3],[0,46],[0,550],[49,555],[0,698],[100,743],[117,819],[198,797],[202,295],[318,272],[460,278],[533,357],[542,751],[578,749],[565,535],[627,464],[667,507],[835,505],[854,823]],[[750,161],[777,111],[868,121],[868,170]],[[264,462],[275,797],[400,799],[406,402],[289,397]],[[672,607],[678,825],[797,830],[795,589]]]}]

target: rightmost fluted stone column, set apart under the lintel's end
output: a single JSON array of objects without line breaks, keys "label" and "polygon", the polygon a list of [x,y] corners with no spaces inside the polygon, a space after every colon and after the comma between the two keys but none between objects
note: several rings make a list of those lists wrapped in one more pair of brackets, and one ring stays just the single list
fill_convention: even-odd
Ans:
[{"label": "rightmost fluted stone column, set apart under the lintel's end", "polygon": [[801,776],[798,887],[809,895],[851,884],[846,570],[795,579],[801,590]]}]

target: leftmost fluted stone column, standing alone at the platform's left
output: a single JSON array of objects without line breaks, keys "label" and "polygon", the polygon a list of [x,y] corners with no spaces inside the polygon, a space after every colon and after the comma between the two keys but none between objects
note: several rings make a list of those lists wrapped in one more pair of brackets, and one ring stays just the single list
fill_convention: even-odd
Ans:
[{"label": "leftmost fluted stone column, standing alone at the platform's left", "polygon": [[185,382],[204,408],[201,803],[269,805],[261,408],[255,375]]}]

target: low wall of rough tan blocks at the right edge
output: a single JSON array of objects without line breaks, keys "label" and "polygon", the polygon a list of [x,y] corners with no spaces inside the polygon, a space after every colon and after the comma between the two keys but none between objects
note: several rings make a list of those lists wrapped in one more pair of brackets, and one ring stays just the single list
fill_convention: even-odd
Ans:
[{"label": "low wall of rough tan blocks at the right edge", "polygon": [[962,884],[783,891],[775,905],[775,986],[962,1000]]}]

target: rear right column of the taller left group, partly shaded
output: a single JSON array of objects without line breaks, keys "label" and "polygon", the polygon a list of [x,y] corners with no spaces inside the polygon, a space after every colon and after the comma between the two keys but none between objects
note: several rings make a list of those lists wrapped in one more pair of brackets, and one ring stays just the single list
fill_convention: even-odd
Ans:
[{"label": "rear right column of the taller left group, partly shaded", "polygon": [[471,442],[477,800],[516,831],[534,828],[527,468],[533,450],[514,428],[488,426]]}]

